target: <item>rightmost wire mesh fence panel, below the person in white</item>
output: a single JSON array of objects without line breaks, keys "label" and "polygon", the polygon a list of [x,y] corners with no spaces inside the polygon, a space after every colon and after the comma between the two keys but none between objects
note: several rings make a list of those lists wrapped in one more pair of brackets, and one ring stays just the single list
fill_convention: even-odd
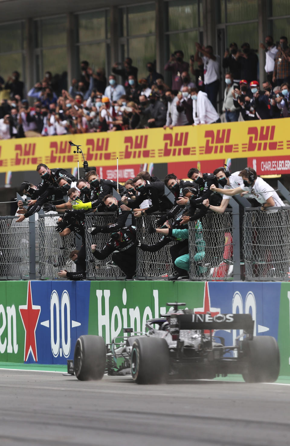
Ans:
[{"label": "rightmost wire mesh fence panel, below the person in white", "polygon": [[246,280],[289,280],[290,209],[246,211],[243,252]]}]

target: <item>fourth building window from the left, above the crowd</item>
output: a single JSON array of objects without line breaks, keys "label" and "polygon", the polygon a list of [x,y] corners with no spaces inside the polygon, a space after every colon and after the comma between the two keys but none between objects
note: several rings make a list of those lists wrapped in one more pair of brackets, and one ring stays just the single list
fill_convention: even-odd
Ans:
[{"label": "fourth building window from the left, above the crowd", "polygon": [[147,62],[156,57],[155,4],[120,8],[120,59],[130,57],[138,67],[138,80],[146,77]]}]

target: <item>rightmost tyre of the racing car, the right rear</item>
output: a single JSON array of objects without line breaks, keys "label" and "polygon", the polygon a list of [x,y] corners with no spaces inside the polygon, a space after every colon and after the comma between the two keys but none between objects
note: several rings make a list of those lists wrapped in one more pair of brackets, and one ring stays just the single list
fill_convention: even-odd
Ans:
[{"label": "rightmost tyre of the racing car, the right rear", "polygon": [[246,364],[242,376],[246,383],[273,383],[280,372],[280,353],[272,336],[255,336],[242,343]]}]

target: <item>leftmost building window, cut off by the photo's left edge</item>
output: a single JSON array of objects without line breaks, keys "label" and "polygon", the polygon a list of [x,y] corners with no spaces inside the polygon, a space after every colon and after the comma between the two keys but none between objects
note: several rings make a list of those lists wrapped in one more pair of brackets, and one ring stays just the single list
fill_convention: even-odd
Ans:
[{"label": "leftmost building window, cut off by the photo's left edge", "polygon": [[24,45],[24,22],[0,25],[0,76],[5,82],[12,76],[13,71],[18,71],[20,80],[25,81]]}]

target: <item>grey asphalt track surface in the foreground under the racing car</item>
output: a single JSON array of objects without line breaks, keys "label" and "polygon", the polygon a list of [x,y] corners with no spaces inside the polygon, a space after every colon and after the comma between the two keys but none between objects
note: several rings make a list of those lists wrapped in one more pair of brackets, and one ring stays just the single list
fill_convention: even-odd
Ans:
[{"label": "grey asphalt track surface in the foreground under the racing car", "polygon": [[285,446],[289,400],[289,384],[0,370],[0,445]]}]

